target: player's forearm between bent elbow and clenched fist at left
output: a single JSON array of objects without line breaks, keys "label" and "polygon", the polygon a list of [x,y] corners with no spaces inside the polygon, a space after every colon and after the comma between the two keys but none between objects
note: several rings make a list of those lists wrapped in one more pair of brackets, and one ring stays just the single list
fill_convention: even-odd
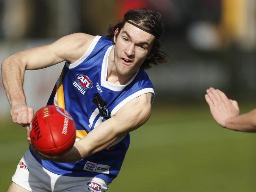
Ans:
[{"label": "player's forearm between bent elbow and clenched fist at left", "polygon": [[2,81],[11,106],[26,104],[23,91],[25,65],[18,55],[12,55],[2,62]]}]

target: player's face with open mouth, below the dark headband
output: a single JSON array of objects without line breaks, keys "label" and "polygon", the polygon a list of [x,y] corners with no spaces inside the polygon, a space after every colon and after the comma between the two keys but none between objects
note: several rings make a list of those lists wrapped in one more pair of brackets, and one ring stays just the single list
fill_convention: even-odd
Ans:
[{"label": "player's face with open mouth, below the dark headband", "polygon": [[114,37],[116,70],[122,76],[133,75],[150,58],[155,37],[130,23],[125,23],[120,33],[117,33],[118,29]]}]

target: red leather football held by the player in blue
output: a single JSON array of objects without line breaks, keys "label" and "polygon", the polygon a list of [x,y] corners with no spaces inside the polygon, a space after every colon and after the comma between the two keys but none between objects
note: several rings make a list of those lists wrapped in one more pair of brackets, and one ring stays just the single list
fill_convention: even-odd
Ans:
[{"label": "red leather football held by the player in blue", "polygon": [[45,156],[67,153],[76,139],[76,125],[61,107],[48,105],[39,109],[30,124],[30,138],[36,150]]}]

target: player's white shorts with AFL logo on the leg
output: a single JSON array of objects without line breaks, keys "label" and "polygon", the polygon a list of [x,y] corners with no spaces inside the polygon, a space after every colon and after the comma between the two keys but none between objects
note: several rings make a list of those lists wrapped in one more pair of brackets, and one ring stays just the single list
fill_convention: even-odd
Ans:
[{"label": "player's white shorts with AFL logo on the leg", "polygon": [[12,181],[36,192],[104,192],[108,182],[97,177],[69,177],[54,174],[33,157],[29,150],[21,158]]}]

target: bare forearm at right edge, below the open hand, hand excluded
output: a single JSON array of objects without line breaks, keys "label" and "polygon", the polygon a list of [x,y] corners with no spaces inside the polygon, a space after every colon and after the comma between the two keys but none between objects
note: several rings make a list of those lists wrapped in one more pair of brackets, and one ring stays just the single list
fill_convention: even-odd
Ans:
[{"label": "bare forearm at right edge, below the open hand, hand excluded", "polygon": [[228,118],[225,127],[235,131],[256,132],[256,109],[249,113]]}]

